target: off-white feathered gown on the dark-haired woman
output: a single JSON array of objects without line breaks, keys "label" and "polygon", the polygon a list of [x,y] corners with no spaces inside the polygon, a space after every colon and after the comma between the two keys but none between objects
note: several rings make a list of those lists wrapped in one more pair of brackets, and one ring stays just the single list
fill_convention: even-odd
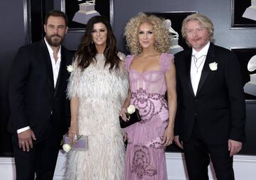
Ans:
[{"label": "off-white feathered gown on the dark-haired woman", "polygon": [[[125,57],[119,53],[121,60]],[[124,142],[119,111],[129,88],[124,66],[110,72],[104,55],[81,71],[77,61],[68,82],[68,97],[79,98],[78,132],[89,149],[68,153],[65,177],[71,180],[124,179]]]}]

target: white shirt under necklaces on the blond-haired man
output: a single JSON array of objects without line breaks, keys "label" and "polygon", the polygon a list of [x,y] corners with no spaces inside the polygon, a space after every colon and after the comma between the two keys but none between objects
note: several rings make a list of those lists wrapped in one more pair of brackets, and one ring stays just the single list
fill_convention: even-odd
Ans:
[{"label": "white shirt under necklaces on the blond-haired man", "polygon": [[210,42],[206,44],[203,49],[200,51],[192,50],[191,56],[191,84],[193,87],[193,92],[196,95],[198,84],[201,78],[201,72],[203,69],[203,65],[206,62],[206,55],[208,53],[208,49],[210,47]]}]

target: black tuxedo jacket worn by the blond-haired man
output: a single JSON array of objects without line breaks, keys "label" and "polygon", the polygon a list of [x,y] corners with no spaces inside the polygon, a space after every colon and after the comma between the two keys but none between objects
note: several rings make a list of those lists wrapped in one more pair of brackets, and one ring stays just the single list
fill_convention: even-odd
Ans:
[{"label": "black tuxedo jacket worn by the blond-haired man", "polygon": [[[191,84],[192,49],[175,55],[178,110],[175,135],[188,142],[197,120],[203,139],[211,145],[228,139],[245,141],[245,98],[237,57],[230,50],[210,44],[198,91]],[[209,64],[218,63],[213,71]]]}]

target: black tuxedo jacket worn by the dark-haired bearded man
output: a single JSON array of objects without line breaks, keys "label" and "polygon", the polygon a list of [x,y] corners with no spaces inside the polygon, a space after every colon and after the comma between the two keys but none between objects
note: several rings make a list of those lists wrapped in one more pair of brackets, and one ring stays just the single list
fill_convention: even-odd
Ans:
[{"label": "black tuxedo jacket worn by the dark-haired bearded man", "polygon": [[49,121],[57,127],[55,133],[58,135],[68,130],[70,108],[66,89],[70,73],[67,66],[71,62],[71,52],[62,46],[60,71],[54,88],[53,69],[45,41],[18,50],[9,81],[8,129],[11,133],[29,125],[38,140]]}]

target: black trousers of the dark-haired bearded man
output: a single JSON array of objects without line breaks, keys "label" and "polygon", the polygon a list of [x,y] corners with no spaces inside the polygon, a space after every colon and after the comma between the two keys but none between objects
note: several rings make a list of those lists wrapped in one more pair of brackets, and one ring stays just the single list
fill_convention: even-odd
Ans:
[{"label": "black trousers of the dark-haired bearded man", "polygon": [[60,148],[61,135],[56,134],[53,123],[49,122],[41,140],[33,141],[33,148],[23,152],[18,147],[18,137],[14,135],[14,159],[16,180],[52,180]]}]

